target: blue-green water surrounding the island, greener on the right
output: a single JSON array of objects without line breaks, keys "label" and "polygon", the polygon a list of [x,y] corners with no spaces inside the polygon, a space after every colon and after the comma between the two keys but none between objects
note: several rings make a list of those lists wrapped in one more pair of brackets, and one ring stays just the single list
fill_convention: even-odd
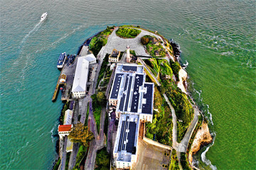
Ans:
[{"label": "blue-green water surrounding the island, greener on the right", "polygon": [[[256,169],[255,1],[0,2],[0,169],[50,169],[63,103],[51,97],[61,52],[106,26],[139,25],[181,45],[189,91],[215,140],[202,169]],[[42,23],[40,16],[48,12]]]}]

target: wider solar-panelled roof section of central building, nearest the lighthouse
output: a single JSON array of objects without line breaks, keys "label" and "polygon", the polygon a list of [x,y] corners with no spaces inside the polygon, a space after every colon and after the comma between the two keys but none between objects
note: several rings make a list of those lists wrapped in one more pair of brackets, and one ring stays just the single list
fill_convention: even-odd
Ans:
[{"label": "wider solar-panelled roof section of central building, nearest the lighthouse", "polygon": [[146,83],[144,67],[117,64],[110,99],[117,99],[117,112],[153,114],[154,84]]}]

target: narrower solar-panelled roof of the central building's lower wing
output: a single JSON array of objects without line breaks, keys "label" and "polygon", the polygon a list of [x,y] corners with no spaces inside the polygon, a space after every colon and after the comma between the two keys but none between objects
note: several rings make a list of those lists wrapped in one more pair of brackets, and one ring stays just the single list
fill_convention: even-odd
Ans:
[{"label": "narrower solar-panelled roof of the central building's lower wing", "polygon": [[139,115],[121,115],[114,144],[117,161],[131,162],[132,154],[137,152]]}]

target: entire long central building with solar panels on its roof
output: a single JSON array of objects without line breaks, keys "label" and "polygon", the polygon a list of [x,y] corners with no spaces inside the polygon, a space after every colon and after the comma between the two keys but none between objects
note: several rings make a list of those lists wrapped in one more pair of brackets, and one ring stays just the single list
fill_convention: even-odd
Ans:
[{"label": "entire long central building with solar panels on its roof", "polygon": [[117,64],[109,103],[116,106],[119,119],[113,151],[118,169],[130,169],[137,162],[139,121],[152,122],[154,83],[145,80],[142,65]]}]

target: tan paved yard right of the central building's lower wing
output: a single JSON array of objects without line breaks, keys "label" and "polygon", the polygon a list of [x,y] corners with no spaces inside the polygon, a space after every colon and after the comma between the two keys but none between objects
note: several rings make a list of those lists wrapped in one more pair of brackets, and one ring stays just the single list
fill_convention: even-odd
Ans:
[{"label": "tan paved yard right of the central building's lower wing", "polygon": [[151,145],[139,139],[137,163],[132,164],[132,169],[168,169],[171,151]]}]

